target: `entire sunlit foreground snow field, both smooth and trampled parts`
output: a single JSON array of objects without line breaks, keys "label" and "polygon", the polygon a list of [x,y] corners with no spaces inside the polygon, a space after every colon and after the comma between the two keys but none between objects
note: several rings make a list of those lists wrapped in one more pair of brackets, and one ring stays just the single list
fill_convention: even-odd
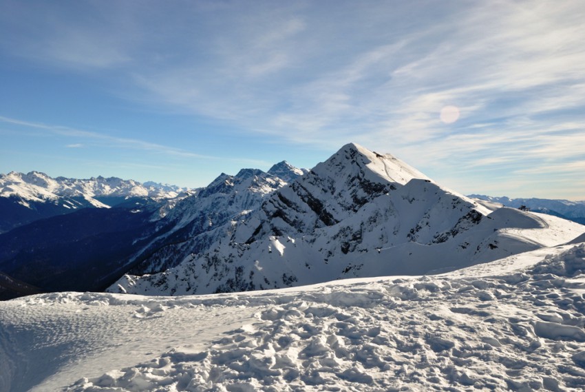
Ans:
[{"label": "entire sunlit foreground snow field, both smooth and trampled parts", "polygon": [[585,388],[585,244],[448,274],[0,303],[1,391]]}]

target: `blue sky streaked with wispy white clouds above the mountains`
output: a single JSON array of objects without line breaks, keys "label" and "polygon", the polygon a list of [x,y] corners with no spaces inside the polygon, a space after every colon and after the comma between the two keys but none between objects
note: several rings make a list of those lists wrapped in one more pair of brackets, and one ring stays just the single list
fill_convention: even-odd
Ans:
[{"label": "blue sky streaked with wispy white clouds above the mountains", "polygon": [[197,187],[352,141],[465,194],[585,200],[584,20],[579,0],[0,0],[0,172]]}]

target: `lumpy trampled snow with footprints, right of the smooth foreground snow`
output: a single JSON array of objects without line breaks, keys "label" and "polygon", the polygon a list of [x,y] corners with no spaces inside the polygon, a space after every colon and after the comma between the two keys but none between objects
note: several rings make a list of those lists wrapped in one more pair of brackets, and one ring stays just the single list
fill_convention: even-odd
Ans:
[{"label": "lumpy trampled snow with footprints, right of the smooth foreground snow", "polygon": [[499,278],[242,294],[252,324],[67,391],[582,390],[582,270],[584,246]]}]

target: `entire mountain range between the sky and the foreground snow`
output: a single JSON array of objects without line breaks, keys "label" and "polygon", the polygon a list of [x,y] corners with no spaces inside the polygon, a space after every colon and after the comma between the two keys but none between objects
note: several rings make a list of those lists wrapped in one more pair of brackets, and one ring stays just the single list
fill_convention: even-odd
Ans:
[{"label": "entire mountain range between the sky and the foreground snow", "polygon": [[[0,175],[0,298],[107,287],[215,293],[434,274],[585,232],[496,204],[504,201],[462,196],[355,144],[310,171],[283,161],[268,172],[222,173],[200,189],[12,172]],[[542,212],[579,218],[582,204],[559,202],[568,208],[560,209],[557,201],[542,200],[551,202]]]}]

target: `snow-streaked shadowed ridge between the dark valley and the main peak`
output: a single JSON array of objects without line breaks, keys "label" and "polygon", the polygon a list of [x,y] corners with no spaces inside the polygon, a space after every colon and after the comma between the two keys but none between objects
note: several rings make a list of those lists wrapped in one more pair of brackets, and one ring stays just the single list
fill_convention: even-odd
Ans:
[{"label": "snow-streaked shadowed ridge between the dark valley and the main peak", "polygon": [[[270,173],[272,171],[272,173]],[[156,236],[129,259],[134,274],[159,272],[178,265],[191,254],[228,236],[235,221],[257,209],[264,198],[304,172],[286,162],[268,173],[242,169],[235,176],[220,174],[211,184],[193,192],[158,222]]]}]

